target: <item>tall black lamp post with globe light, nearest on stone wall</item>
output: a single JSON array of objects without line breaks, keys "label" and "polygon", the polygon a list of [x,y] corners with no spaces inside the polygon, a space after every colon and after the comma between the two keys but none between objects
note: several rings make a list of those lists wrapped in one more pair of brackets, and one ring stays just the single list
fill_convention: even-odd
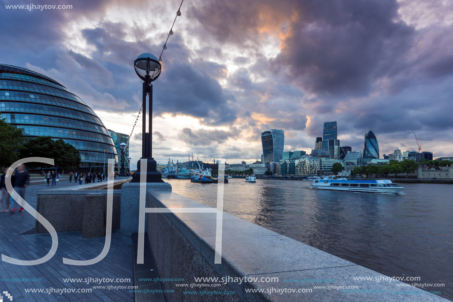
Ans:
[{"label": "tall black lamp post with globe light, nearest on stone wall", "polygon": [[[151,53],[142,53],[134,61],[135,73],[143,80],[143,128],[142,128],[142,157],[137,163],[137,171],[132,174],[132,182],[140,182],[140,161],[147,159],[146,182],[164,182],[159,173],[157,163],[152,155],[152,133],[153,133],[153,84],[151,82],[159,78],[161,74],[161,63]],[[146,131],[146,95],[149,95],[149,125]],[[144,172],[143,172],[144,173]]]}]

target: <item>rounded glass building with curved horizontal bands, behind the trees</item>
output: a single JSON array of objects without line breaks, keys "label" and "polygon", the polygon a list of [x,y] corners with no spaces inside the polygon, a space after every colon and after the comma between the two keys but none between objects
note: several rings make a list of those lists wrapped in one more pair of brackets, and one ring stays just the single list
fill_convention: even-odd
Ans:
[{"label": "rounded glass building with curved horizontal bands, behind the trees", "polygon": [[76,147],[82,158],[79,172],[102,173],[112,156],[118,165],[113,140],[94,111],[44,75],[0,64],[0,114],[7,123],[22,129],[26,139],[51,136]]}]

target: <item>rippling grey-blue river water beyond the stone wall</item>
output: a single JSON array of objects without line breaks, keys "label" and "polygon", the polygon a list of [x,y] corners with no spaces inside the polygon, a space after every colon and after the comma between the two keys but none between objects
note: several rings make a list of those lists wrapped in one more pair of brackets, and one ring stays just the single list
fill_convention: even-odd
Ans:
[{"label": "rippling grey-blue river water beyond the stone wall", "polygon": [[[216,207],[217,184],[165,181],[173,192]],[[230,178],[224,211],[387,276],[443,283],[422,289],[453,300],[453,185],[402,184],[400,195],[310,186]]]}]

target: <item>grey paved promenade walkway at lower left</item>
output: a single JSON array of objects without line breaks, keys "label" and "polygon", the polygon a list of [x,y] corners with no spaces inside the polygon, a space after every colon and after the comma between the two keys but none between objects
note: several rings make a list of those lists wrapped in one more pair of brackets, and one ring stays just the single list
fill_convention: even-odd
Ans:
[{"label": "grey paved promenade walkway at lower left", "polygon": [[[39,184],[27,188],[25,200],[36,207],[38,190],[58,189],[61,187],[79,186],[69,181],[58,182],[56,186]],[[11,258],[33,260],[45,256],[51,247],[49,234],[34,234],[35,219],[27,212],[3,213],[5,205],[0,204],[0,253]],[[110,301],[132,302],[132,239],[130,234],[119,234],[114,231],[112,243],[107,256],[100,262],[76,266],[63,264],[63,258],[87,260],[97,257],[104,247],[105,237],[82,239],[81,232],[58,233],[58,249],[49,261],[35,266],[21,266],[0,261],[0,294],[8,291],[13,302],[46,302],[46,301]],[[15,281],[15,279],[22,279]],[[65,280],[77,278],[82,280]],[[93,280],[87,284],[89,278]],[[115,279],[99,280],[102,278]],[[128,279],[124,280],[116,279]],[[11,280],[12,279],[12,280]],[[25,279],[25,280],[24,280]],[[26,280],[29,279],[29,280]],[[99,281],[100,284],[99,284]],[[98,289],[93,286],[105,286]],[[107,287],[111,290],[107,289]],[[122,286],[122,289],[112,287]],[[37,290],[41,293],[27,293]],[[73,291],[61,294],[61,290]],[[86,290],[91,292],[86,292]],[[3,294],[2,294],[3,295]],[[3,299],[5,296],[3,295]],[[9,301],[3,300],[3,301]]]}]

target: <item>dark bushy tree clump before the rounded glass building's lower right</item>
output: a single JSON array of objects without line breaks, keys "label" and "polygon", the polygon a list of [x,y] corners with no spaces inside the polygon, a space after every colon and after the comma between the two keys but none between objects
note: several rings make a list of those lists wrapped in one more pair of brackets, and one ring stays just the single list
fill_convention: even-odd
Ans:
[{"label": "dark bushy tree clump before the rounded glass building's lower right", "polygon": [[[53,140],[50,136],[38,136],[30,139],[24,144],[20,152],[21,158],[46,157],[52,158],[55,167],[63,169],[77,169],[81,163],[79,151],[71,144],[65,143],[62,139]],[[49,168],[49,165],[42,163],[28,163],[30,169],[38,167]]]}]

